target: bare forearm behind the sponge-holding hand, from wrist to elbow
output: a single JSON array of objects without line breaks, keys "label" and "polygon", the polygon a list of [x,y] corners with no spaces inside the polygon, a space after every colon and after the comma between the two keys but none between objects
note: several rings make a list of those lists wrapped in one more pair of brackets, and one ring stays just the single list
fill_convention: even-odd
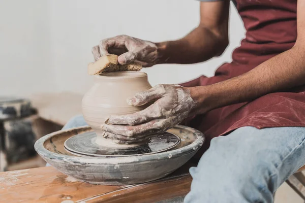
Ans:
[{"label": "bare forearm behind the sponge-holding hand, from wrist to elbow", "polygon": [[186,37],[157,43],[158,63],[198,63],[223,53],[228,38],[198,26]]}]

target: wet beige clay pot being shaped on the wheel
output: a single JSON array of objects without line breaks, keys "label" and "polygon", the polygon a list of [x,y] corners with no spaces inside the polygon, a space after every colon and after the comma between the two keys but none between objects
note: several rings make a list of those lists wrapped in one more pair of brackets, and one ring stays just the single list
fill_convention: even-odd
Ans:
[{"label": "wet beige clay pot being shaped on the wheel", "polygon": [[[112,72],[94,76],[94,85],[82,99],[82,113],[87,124],[97,133],[96,143],[103,146],[127,147],[103,138],[101,124],[110,115],[131,114],[147,107],[132,107],[127,98],[151,88],[143,72]],[[143,143],[133,144],[141,145]],[[129,146],[129,145],[128,145]]]}]

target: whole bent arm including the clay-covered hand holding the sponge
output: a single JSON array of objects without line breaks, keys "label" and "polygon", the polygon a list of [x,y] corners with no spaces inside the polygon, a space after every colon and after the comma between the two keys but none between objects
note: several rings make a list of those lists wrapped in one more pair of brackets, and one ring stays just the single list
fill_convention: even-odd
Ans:
[{"label": "whole bent arm including the clay-covered hand holding the sponge", "polygon": [[93,47],[95,60],[102,55],[118,55],[120,64],[139,62],[144,67],[158,63],[197,63],[223,53],[228,45],[228,0],[201,2],[200,23],[186,37],[153,43],[126,35],[104,39]]}]

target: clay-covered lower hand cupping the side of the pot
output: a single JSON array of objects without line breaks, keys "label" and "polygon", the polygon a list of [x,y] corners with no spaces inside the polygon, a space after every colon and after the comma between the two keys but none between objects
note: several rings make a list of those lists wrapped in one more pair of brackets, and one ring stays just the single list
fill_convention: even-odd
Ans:
[{"label": "clay-covered lower hand cupping the side of the pot", "polygon": [[157,85],[127,99],[127,103],[135,107],[151,101],[155,103],[140,112],[110,116],[101,126],[104,137],[117,143],[139,142],[180,123],[196,107],[190,90],[180,85]]}]

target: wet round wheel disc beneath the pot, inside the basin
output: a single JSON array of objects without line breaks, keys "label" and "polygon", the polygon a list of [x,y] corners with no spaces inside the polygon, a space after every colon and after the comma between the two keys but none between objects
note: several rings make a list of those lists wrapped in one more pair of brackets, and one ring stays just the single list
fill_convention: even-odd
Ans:
[{"label": "wet round wheel disc beneath the pot, inside the basin", "polygon": [[180,143],[180,138],[172,133],[164,132],[150,138],[147,144],[130,148],[110,148],[96,144],[97,134],[94,131],[76,134],[66,140],[65,149],[78,156],[132,156],[155,154],[173,149]]}]

